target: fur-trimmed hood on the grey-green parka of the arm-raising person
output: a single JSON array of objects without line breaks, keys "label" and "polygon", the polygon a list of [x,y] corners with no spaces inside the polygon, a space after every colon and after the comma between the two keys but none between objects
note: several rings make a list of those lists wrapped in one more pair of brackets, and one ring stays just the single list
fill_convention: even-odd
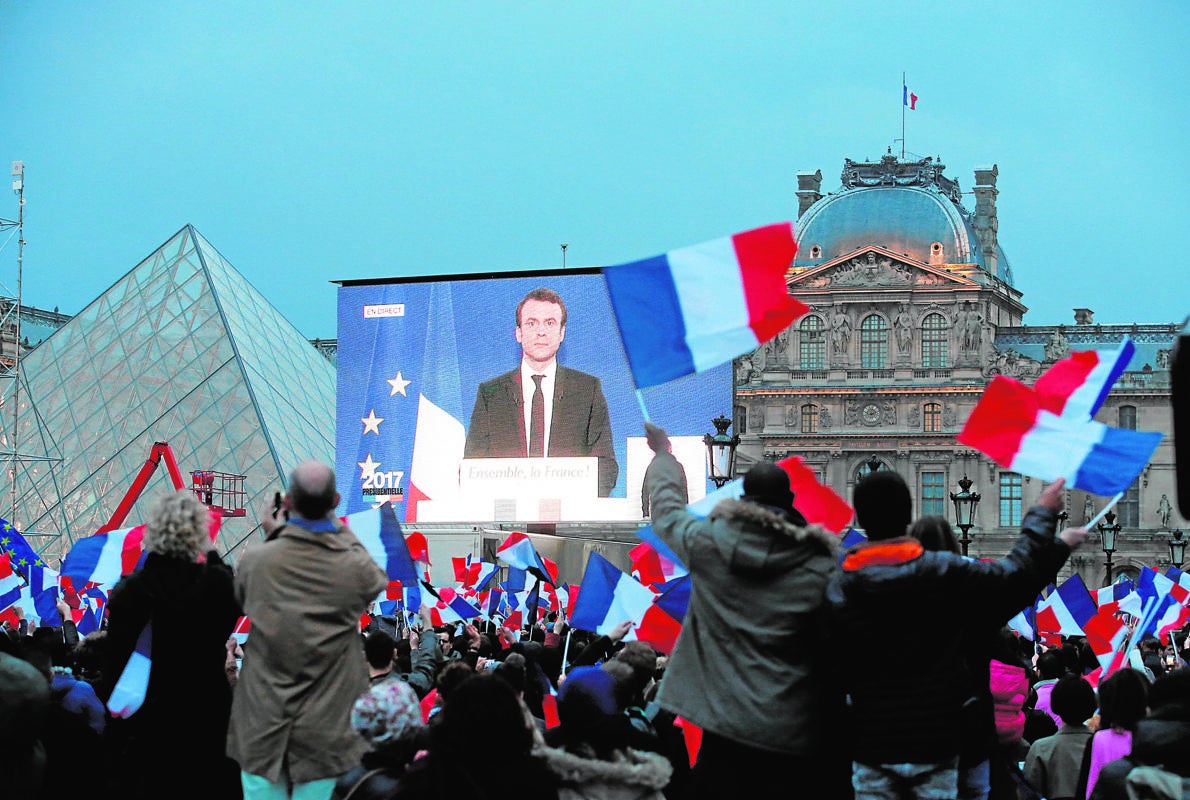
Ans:
[{"label": "fur-trimmed hood on the grey-green parka of the arm-raising person", "polygon": [[833,557],[839,552],[839,537],[821,525],[794,525],[778,510],[758,502],[722,500],[712,510],[709,519],[724,520],[745,533],[732,552],[732,571],[788,569],[791,561],[819,555]]}]

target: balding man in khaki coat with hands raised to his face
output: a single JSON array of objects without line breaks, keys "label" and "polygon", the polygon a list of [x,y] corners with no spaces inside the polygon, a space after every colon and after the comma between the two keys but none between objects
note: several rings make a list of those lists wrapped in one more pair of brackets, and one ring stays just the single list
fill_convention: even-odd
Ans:
[{"label": "balding man in khaki coat with hands raised to his face", "polygon": [[[333,511],[334,473],[307,461],[264,542],[240,558],[236,595],[252,620],[236,685],[227,755],[245,800],[331,796],[367,749],[351,707],[368,689],[359,617],[388,583]],[[281,519],[281,512],[287,519]]]}]

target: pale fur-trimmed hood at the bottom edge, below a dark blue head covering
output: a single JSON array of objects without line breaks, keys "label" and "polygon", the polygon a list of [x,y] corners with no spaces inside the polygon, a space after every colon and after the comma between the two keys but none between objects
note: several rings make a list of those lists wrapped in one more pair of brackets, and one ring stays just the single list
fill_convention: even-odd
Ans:
[{"label": "pale fur-trimmed hood at the bottom edge, below a dark blue head covering", "polygon": [[541,748],[534,755],[562,779],[559,798],[660,798],[674,774],[674,767],[663,756],[632,749],[614,751],[610,761],[585,758],[557,748]]}]

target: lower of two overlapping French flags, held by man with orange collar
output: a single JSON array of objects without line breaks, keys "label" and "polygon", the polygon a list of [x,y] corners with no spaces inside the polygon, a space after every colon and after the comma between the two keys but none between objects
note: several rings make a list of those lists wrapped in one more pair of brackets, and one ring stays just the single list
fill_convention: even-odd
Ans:
[{"label": "lower of two overlapping French flags, held by man with orange collar", "polygon": [[1036,392],[997,375],[956,438],[1015,473],[1065,477],[1071,488],[1110,496],[1140,475],[1161,435],[1059,417],[1041,407]]}]

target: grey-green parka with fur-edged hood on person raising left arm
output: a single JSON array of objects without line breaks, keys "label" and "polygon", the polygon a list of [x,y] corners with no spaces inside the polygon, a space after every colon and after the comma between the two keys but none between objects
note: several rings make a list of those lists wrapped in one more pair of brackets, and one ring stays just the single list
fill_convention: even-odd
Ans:
[{"label": "grey-green parka with fur-edged hood on person raising left arm", "polygon": [[838,695],[826,676],[826,586],[835,537],[779,510],[724,500],[707,519],[685,510],[678,463],[650,469],[653,530],[693,579],[682,633],[658,701],[741,744],[810,756]]}]

